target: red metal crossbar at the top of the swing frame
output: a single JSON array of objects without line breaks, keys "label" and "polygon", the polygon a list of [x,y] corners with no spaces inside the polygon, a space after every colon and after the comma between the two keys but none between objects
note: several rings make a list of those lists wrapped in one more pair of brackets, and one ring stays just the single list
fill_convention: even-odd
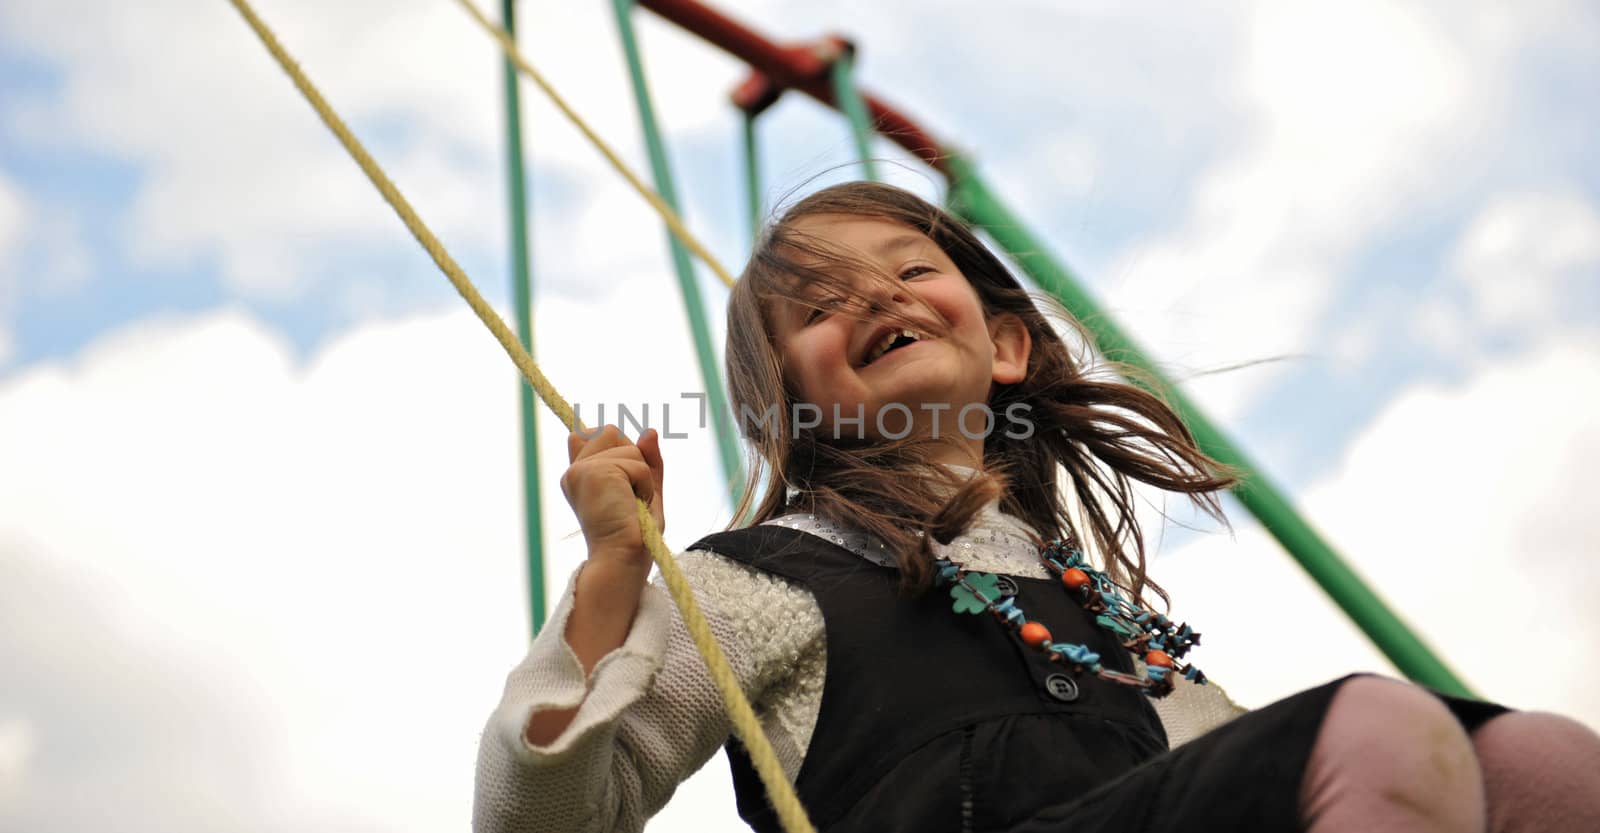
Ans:
[{"label": "red metal crossbar at the top of the swing frame", "polygon": [[[816,46],[779,46],[754,29],[698,3],[696,0],[638,0],[638,5],[720,46],[750,64],[779,88],[798,90],[829,107],[838,109],[827,82],[829,61],[838,54],[843,38],[829,37]],[[928,131],[869,93],[861,94],[878,133],[912,152],[917,158],[949,176],[944,168],[942,144]]]}]

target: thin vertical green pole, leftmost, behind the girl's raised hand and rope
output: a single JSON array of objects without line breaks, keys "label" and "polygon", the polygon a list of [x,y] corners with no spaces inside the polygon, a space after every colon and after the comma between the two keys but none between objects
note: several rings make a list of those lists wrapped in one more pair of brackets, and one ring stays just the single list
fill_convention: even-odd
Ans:
[{"label": "thin vertical green pole, leftmost, behind the girl's raised hand and rope", "polygon": [[[506,32],[517,37],[515,0],[501,0]],[[506,192],[510,197],[510,280],[517,307],[517,337],[533,353],[533,286],[528,278],[528,189],[522,165],[522,102],[517,98],[517,67],[501,61],[506,86]],[[533,387],[517,381],[522,419],[522,497],[528,532],[528,604],[533,633],[544,624],[544,524],[539,520],[539,422]]]}]

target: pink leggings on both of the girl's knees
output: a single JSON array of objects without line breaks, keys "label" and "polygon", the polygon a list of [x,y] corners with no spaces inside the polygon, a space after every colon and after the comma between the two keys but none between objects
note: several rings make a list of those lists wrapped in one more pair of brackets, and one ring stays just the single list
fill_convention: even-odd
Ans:
[{"label": "pink leggings on both of the girl's knees", "polygon": [[1600,735],[1544,711],[1467,735],[1427,691],[1357,676],[1328,705],[1301,820],[1309,833],[1595,833]]}]

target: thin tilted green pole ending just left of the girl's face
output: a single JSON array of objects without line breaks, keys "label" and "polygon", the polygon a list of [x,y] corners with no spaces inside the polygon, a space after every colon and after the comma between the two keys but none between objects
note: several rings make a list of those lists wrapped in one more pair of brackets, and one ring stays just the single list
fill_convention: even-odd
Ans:
[{"label": "thin tilted green pole ending just left of the girl's face", "polygon": [[[656,109],[650,104],[650,88],[645,85],[645,67],[638,58],[638,40],[634,37],[634,2],[613,0],[616,11],[616,27],[622,38],[622,51],[627,54],[627,74],[634,82],[634,101],[638,106],[638,122],[645,130],[645,144],[650,147],[650,169],[656,177],[656,192],[661,200],[672,206],[678,216],[677,189],[672,184],[672,169],[667,166],[667,147],[661,139],[656,125]],[[710,411],[712,427],[717,433],[717,449],[722,452],[722,468],[728,480],[728,497],[738,502],[744,489],[742,465],[739,464],[739,446],[734,440],[728,397],[722,389],[722,376],[717,373],[717,352],[710,345],[710,328],[706,325],[706,305],[701,302],[699,283],[694,280],[694,264],[682,241],[672,233],[667,235],[672,246],[672,265],[678,273],[678,289],[683,296],[683,309],[690,317],[690,331],[694,334],[694,353],[699,357],[701,382],[706,385],[706,406]]]}]

